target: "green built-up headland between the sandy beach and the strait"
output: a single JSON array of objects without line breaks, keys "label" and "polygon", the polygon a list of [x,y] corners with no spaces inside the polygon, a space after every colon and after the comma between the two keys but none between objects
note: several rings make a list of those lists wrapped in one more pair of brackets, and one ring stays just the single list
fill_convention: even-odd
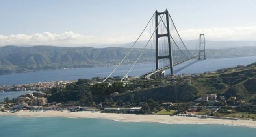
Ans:
[{"label": "green built-up headland between the sandy beach and the strait", "polygon": [[[204,74],[165,76],[144,80],[137,76],[78,79],[77,81],[39,82],[2,86],[2,90],[37,90],[0,103],[1,111],[69,110],[104,113],[134,113],[256,119],[256,99],[251,88],[256,64],[224,68]],[[236,75],[241,79],[233,79]],[[253,73],[254,74],[254,73]],[[248,79],[248,80],[247,80]],[[237,85],[243,82],[243,85]],[[252,96],[241,94],[239,87]],[[235,91],[235,92],[234,92]],[[230,117],[230,118],[228,118]]]}]

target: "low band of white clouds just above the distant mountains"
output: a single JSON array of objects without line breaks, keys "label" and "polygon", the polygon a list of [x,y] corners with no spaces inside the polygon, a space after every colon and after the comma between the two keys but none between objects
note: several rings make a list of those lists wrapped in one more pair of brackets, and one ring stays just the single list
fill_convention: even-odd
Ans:
[{"label": "low band of white clouds just above the distant mountains", "polygon": [[[178,30],[183,40],[198,39],[199,33],[205,33],[206,40],[215,41],[253,41],[256,40],[256,26],[234,27],[234,28],[208,28],[208,29],[187,29]],[[144,32],[141,40],[148,40],[150,32]],[[50,32],[34,34],[13,34],[9,36],[0,35],[0,46],[4,45],[56,45],[56,46],[82,46],[121,44],[135,41],[137,35],[96,38],[85,36],[72,31],[62,34]]]}]

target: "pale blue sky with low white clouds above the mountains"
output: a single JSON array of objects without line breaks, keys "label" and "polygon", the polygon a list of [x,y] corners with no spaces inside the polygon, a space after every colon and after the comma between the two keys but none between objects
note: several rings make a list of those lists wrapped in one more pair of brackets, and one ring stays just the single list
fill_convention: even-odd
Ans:
[{"label": "pale blue sky with low white clouds above the mountains", "polygon": [[213,41],[254,41],[255,7],[256,0],[0,0],[0,46],[128,43],[166,8],[183,40],[205,33]]}]

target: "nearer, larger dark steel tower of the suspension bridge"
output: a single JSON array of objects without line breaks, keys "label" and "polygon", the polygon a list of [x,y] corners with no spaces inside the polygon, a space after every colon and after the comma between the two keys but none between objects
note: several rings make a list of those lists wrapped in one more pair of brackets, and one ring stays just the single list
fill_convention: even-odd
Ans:
[{"label": "nearer, larger dark steel tower of the suspension bridge", "polygon": [[[160,17],[160,15],[162,14],[165,14],[166,16],[166,27],[167,27],[167,33],[166,34],[158,34],[158,17]],[[156,10],[156,13],[155,13],[155,16],[156,16],[156,70],[158,70],[158,61],[160,59],[169,59],[169,62],[170,62],[170,70],[171,70],[171,75],[173,75],[173,60],[172,60],[172,52],[171,52],[171,39],[170,39],[170,27],[169,27],[169,13],[168,13],[168,10],[166,9],[165,12],[158,12]],[[168,39],[168,52],[169,52],[169,55],[167,56],[158,56],[158,38],[160,37],[167,37]]]}]

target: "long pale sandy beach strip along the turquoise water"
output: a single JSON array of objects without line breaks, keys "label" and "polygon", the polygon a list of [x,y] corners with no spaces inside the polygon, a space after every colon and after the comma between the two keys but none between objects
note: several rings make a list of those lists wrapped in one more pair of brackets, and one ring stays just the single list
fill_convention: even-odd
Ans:
[{"label": "long pale sandy beach strip along the turquoise water", "polygon": [[48,110],[45,112],[30,112],[28,110],[15,113],[0,112],[0,115],[12,115],[20,117],[67,117],[67,118],[97,118],[109,119],[122,122],[146,122],[164,124],[219,124],[228,126],[245,126],[256,128],[256,121],[252,120],[224,120],[224,119],[204,119],[197,117],[181,117],[169,115],[137,115],[137,114],[115,114],[100,112],[68,112]]}]

